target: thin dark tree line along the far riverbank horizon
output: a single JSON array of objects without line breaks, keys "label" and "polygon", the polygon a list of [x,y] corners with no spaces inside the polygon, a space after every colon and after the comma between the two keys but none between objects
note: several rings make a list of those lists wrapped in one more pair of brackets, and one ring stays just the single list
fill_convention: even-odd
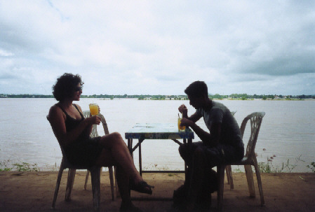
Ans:
[{"label": "thin dark tree line along the far riverbank horizon", "polygon": [[[43,95],[43,94],[0,94],[0,98],[53,98],[53,95]],[[93,94],[93,95],[81,95],[81,98],[100,98],[100,99],[188,99],[187,95],[111,95],[111,94]],[[220,95],[220,94],[209,94],[210,99],[315,99],[314,95],[277,95],[277,94],[230,94],[230,95]]]}]

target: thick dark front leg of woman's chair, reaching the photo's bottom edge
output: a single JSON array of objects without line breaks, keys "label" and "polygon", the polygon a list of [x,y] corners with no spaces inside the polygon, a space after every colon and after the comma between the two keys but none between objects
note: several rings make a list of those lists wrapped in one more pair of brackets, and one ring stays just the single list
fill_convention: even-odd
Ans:
[{"label": "thick dark front leg of woman's chair, reaching the photo's bottom edge", "polygon": [[92,167],[90,171],[93,190],[93,206],[95,211],[100,211],[100,167]]}]

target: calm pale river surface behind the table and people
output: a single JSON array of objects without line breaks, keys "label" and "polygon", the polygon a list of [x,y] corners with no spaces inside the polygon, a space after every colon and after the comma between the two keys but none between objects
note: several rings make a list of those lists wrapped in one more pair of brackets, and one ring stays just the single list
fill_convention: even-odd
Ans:
[{"label": "calm pale river surface behind the table and people", "polygon": [[[0,162],[10,160],[36,163],[41,170],[51,170],[55,164],[57,167],[60,166],[62,157],[60,147],[51,125],[46,120],[49,108],[56,102],[55,99],[0,99]],[[99,104],[101,113],[107,120],[109,132],[119,132],[123,138],[125,132],[136,123],[176,123],[177,108],[180,104],[186,104],[189,115],[194,113],[189,101],[182,100],[81,99],[75,103],[85,111],[92,102]],[[315,162],[315,101],[220,102],[230,111],[236,111],[235,118],[239,125],[250,113],[257,111],[266,113],[256,146],[258,162],[267,162],[267,157],[276,155],[272,162],[274,166],[280,167],[289,160],[289,164],[297,164],[293,171],[310,171],[306,166]],[[203,119],[197,124],[206,129]],[[246,128],[249,129],[249,125]],[[104,134],[102,127],[98,127],[98,132],[100,135]],[[193,141],[199,141],[196,134]],[[245,145],[247,141],[248,137],[244,136]],[[178,145],[170,140],[144,141],[142,167],[154,170],[182,170],[184,163],[177,148]],[[300,157],[300,160],[296,161],[297,157]],[[138,167],[138,150],[135,151],[134,158]]]}]

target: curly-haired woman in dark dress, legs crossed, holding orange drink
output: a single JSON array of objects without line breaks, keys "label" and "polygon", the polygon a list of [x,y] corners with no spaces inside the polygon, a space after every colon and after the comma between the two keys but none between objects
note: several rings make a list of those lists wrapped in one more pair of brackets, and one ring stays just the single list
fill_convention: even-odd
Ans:
[{"label": "curly-haired woman in dark dress, legs crossed, holding orange drink", "polygon": [[93,125],[100,125],[100,117],[83,118],[81,107],[72,104],[80,100],[82,85],[81,76],[72,73],[64,73],[53,85],[53,96],[59,101],[48,115],[53,132],[72,164],[116,166],[122,199],[120,211],[140,211],[130,200],[129,188],[151,195],[154,187],[143,181],[135,169],[133,158],[118,132],[90,138]]}]

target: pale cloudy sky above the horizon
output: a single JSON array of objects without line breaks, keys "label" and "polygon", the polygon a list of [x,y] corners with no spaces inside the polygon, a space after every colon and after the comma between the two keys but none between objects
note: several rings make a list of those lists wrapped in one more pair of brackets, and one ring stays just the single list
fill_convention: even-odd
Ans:
[{"label": "pale cloudy sky above the horizon", "polygon": [[0,0],[0,94],[315,94],[315,1]]}]

